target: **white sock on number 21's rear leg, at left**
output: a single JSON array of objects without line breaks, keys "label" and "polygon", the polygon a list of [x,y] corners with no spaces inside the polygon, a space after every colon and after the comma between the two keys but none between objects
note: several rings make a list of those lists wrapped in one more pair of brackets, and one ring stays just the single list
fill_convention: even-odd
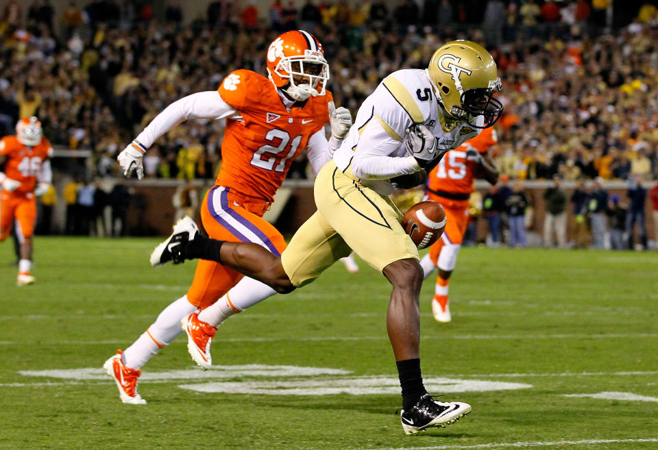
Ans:
[{"label": "white sock on number 21's rear leg, at left", "polygon": [[187,295],[164,308],[153,325],[123,351],[123,364],[130,368],[142,368],[153,355],[183,332],[180,319],[195,310],[197,307],[187,300]]}]

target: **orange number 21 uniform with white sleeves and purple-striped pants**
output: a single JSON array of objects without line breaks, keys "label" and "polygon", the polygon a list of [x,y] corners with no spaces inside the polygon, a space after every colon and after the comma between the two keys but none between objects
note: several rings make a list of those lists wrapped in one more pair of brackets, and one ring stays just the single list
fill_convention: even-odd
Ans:
[{"label": "orange number 21 uniform with white sleeves and purple-striped pants", "polygon": [[[328,145],[324,134],[330,103],[333,97],[327,91],[299,107],[300,103],[282,97],[266,77],[237,70],[223,79],[217,91],[198,92],[169,105],[133,145],[150,147],[181,119],[226,118],[221,170],[202,202],[202,223],[211,238],[255,242],[280,255],[286,247],[283,236],[262,216],[292,160],[304,149],[317,173],[339,147],[339,141]],[[242,277],[217,262],[199,260],[188,301],[206,308]]]}]

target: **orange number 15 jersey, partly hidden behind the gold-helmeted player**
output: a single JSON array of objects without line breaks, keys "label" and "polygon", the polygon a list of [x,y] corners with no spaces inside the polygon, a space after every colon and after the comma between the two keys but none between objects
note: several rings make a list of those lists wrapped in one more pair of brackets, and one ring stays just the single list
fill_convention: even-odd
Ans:
[{"label": "orange number 15 jersey, partly hidden behind the gold-helmeted player", "polygon": [[443,155],[441,162],[430,172],[427,180],[428,191],[461,194],[461,197],[468,199],[468,195],[474,190],[477,164],[466,159],[466,151],[473,147],[478,152],[485,153],[496,143],[498,143],[496,130],[489,127],[456,149],[448,151],[446,155]]}]

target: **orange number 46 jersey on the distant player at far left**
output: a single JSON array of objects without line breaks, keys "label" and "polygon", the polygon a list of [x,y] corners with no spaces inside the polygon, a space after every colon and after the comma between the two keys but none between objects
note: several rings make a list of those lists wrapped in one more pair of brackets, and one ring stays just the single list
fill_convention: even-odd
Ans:
[{"label": "orange number 46 jersey on the distant player at far left", "polygon": [[47,160],[53,149],[46,138],[34,147],[21,144],[16,136],[5,136],[0,139],[0,155],[7,156],[4,172],[8,178],[21,182],[14,192],[32,192],[36,186],[36,176],[41,170],[41,164]]}]

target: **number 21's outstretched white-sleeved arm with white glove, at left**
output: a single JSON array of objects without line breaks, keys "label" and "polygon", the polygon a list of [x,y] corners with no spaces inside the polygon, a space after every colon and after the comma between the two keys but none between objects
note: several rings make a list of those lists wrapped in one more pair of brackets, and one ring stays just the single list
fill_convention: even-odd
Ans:
[{"label": "number 21's outstretched white-sleeved arm with white glove, at left", "polygon": [[236,110],[223,101],[215,90],[197,92],[171,103],[119,153],[117,160],[123,168],[123,175],[130,177],[132,172],[136,171],[138,179],[142,179],[144,153],[160,136],[179,123],[189,118],[221,119],[234,114],[237,114]]}]

